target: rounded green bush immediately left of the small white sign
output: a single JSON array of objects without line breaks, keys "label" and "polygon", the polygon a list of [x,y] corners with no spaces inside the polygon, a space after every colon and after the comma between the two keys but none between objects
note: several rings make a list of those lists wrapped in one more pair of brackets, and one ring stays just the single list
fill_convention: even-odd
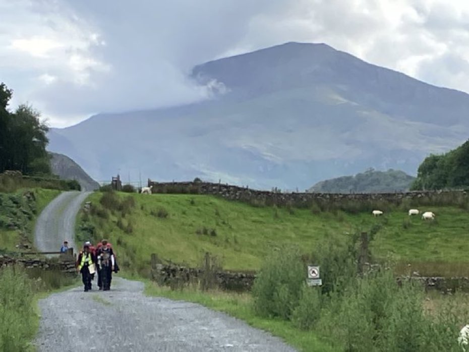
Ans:
[{"label": "rounded green bush immediately left of the small white sign", "polygon": [[298,305],[305,272],[298,250],[275,251],[254,281],[252,295],[256,313],[290,319]]}]

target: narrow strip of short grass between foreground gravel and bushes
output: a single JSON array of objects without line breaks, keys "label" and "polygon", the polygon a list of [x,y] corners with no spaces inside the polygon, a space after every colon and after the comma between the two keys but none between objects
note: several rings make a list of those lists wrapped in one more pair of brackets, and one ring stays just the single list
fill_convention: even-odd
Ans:
[{"label": "narrow strip of short grass between foreground gravel and bushes", "polygon": [[172,291],[167,287],[160,287],[153,282],[145,282],[145,294],[149,296],[194,302],[215,311],[224,312],[244,320],[255,328],[268,331],[302,351],[333,351],[329,345],[322,342],[311,331],[299,330],[290,322],[280,319],[256,316],[252,310],[252,298],[249,294],[234,294],[222,291],[202,292],[196,289]]}]

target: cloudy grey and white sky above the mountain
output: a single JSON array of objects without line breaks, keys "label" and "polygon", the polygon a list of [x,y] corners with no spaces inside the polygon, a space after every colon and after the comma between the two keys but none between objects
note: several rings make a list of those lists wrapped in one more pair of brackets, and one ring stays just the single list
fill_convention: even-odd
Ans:
[{"label": "cloudy grey and white sky above the mountain", "polygon": [[0,81],[52,127],[204,99],[194,65],[287,41],[469,92],[467,0],[0,0]]}]

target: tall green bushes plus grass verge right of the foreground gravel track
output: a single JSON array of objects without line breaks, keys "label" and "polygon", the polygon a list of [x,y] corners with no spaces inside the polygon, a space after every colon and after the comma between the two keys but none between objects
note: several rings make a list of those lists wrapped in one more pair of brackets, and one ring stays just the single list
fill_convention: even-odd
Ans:
[{"label": "tall green bushes plus grass verge right of the foreground gravel track", "polygon": [[[293,247],[274,251],[252,294],[204,291],[200,284],[171,289],[148,281],[146,294],[225,312],[304,351],[459,351],[459,328],[469,318],[466,296],[426,295],[411,282],[398,286],[386,266],[360,274],[361,241],[358,234],[344,243],[330,239],[307,256]],[[305,283],[306,264],[312,262],[326,279],[321,287]]]}]

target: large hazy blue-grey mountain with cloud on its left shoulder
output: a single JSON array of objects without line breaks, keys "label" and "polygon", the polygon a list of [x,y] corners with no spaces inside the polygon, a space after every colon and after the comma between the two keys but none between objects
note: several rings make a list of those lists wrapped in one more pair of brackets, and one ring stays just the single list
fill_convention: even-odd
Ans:
[{"label": "large hazy blue-grey mountain with cloud on its left shoulder", "polygon": [[[271,189],[368,167],[415,174],[469,133],[469,95],[368,64],[325,44],[285,43],[193,69],[199,103],[101,113],[51,129],[49,149],[92,177],[205,180]],[[156,98],[157,99],[157,96]]]}]

